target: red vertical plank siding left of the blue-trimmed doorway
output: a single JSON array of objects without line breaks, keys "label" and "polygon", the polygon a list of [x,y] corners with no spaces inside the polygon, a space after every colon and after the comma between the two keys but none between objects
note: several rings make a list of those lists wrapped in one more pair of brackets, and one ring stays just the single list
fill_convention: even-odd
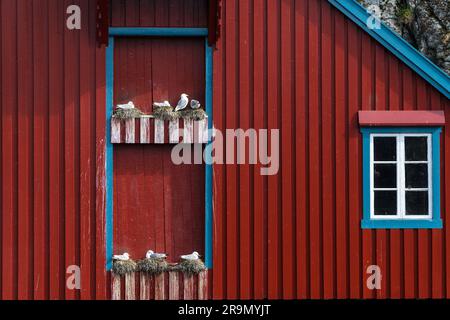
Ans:
[{"label": "red vertical plank siding left of the blue-trimmed doorway", "polygon": [[[81,30],[66,28],[71,4],[81,7]],[[95,43],[96,3],[0,5],[1,298],[105,299],[105,57]],[[81,266],[81,293],[66,288],[72,264]]]}]

